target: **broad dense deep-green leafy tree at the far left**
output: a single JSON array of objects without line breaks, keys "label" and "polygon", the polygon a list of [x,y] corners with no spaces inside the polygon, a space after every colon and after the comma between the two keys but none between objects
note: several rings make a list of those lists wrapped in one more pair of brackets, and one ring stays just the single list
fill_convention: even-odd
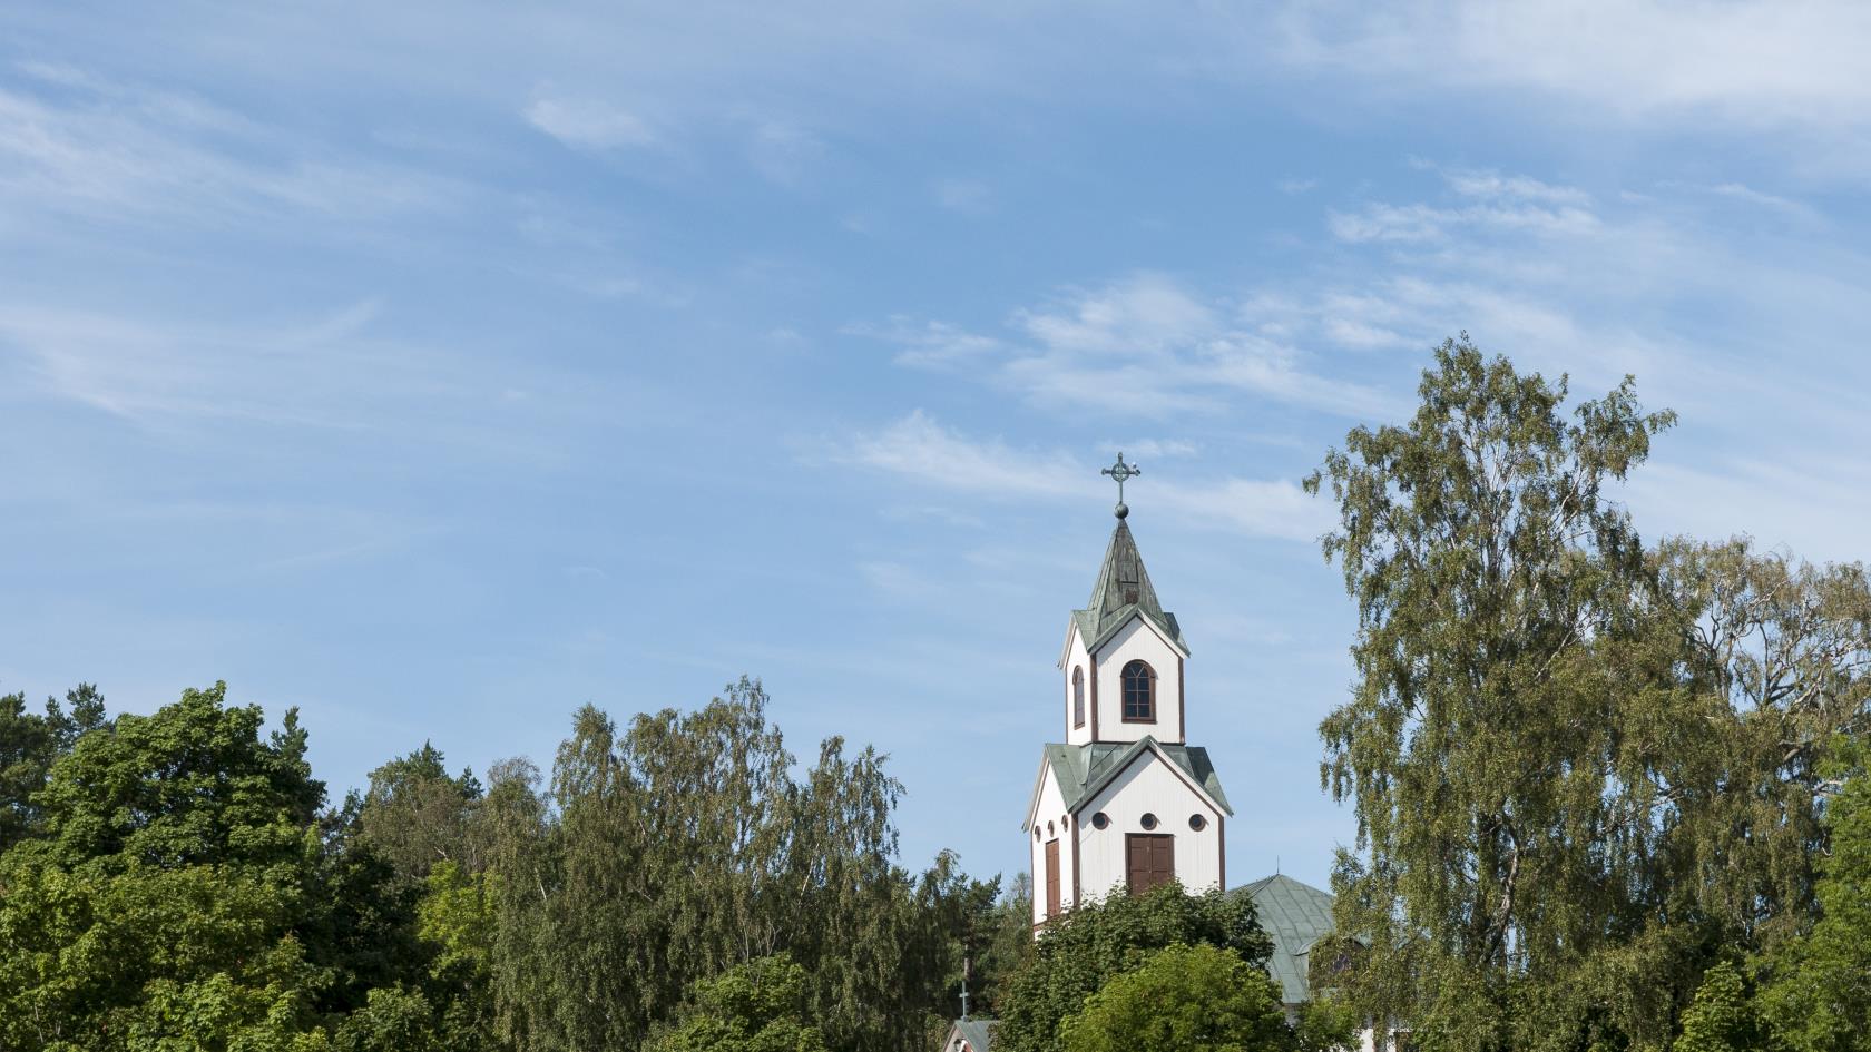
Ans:
[{"label": "broad dense deep-green leafy tree at the far left", "polygon": [[421,1046],[413,904],[322,835],[294,713],[217,683],[71,738],[0,855],[0,1048]]}]

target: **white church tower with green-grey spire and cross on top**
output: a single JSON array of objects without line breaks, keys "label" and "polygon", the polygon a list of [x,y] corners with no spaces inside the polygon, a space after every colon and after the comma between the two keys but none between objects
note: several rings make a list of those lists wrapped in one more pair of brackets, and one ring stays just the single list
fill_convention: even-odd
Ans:
[{"label": "white church tower with green-grey spire and cross on top", "polygon": [[1117,528],[1091,603],[1066,621],[1065,739],[1040,754],[1023,826],[1035,928],[1113,891],[1227,884],[1233,811],[1209,751],[1188,743],[1188,644],[1130,535],[1123,487],[1139,472],[1119,455],[1104,474],[1117,481]]}]

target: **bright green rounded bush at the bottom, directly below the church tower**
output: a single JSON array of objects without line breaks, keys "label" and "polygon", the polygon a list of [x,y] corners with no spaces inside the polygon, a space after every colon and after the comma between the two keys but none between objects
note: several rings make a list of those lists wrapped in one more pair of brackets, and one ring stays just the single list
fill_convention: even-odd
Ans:
[{"label": "bright green rounded bush at the bottom, directly below the church tower", "polygon": [[1239,955],[1171,945],[1113,975],[1061,1024],[1065,1052],[1285,1052],[1280,988]]}]

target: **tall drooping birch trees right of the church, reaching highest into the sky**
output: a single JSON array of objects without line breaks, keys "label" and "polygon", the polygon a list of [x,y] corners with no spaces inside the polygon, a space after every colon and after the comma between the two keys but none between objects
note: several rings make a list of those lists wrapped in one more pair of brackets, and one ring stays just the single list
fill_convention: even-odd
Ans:
[{"label": "tall drooping birch trees right of the church, reaching highest into the sky", "polygon": [[1871,1048],[1865,573],[1646,545],[1675,416],[1566,402],[1463,335],[1308,479],[1358,608],[1315,986],[1416,1048]]}]

